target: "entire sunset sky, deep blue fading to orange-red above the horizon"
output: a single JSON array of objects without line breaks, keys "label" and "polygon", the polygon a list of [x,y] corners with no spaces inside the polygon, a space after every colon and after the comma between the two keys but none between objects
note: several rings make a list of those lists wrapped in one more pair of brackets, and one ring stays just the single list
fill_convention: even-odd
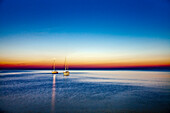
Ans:
[{"label": "entire sunset sky, deep blue fading to orange-red above the horizon", "polygon": [[170,67],[169,0],[0,0],[0,69]]}]

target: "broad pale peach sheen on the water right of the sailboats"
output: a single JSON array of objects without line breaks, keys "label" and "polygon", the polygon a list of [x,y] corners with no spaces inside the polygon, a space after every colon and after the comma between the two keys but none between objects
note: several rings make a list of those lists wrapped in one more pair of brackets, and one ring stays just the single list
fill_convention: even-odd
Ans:
[{"label": "broad pale peach sheen on the water right of the sailboats", "polygon": [[149,87],[170,86],[169,72],[86,71],[83,74],[75,74],[73,78],[77,78],[78,82],[121,83]]}]

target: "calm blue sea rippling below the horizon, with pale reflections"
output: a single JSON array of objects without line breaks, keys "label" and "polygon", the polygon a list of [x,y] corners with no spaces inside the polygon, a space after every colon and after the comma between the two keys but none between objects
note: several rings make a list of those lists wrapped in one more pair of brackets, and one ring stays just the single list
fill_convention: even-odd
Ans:
[{"label": "calm blue sea rippling below the horizon, with pale reflections", "polygon": [[170,72],[0,71],[0,112],[168,113]]}]

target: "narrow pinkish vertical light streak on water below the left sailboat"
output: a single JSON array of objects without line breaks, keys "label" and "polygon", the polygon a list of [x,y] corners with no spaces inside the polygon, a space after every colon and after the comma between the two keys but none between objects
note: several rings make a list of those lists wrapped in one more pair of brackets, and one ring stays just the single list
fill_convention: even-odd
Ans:
[{"label": "narrow pinkish vertical light streak on water below the left sailboat", "polygon": [[52,87],[52,99],[51,99],[51,113],[55,113],[55,77],[56,75],[53,75],[53,87]]}]

